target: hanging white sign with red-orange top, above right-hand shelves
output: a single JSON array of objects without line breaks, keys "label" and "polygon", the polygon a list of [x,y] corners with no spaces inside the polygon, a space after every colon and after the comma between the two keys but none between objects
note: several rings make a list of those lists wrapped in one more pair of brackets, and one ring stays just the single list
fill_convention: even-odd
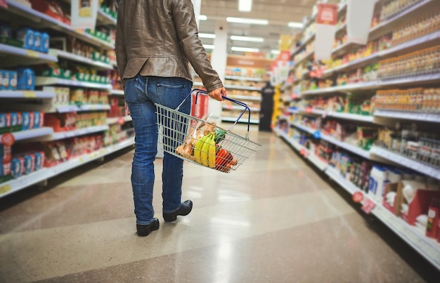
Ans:
[{"label": "hanging white sign with red-orange top, above right-hand shelves", "polygon": [[315,60],[332,56],[337,22],[337,4],[319,3],[316,14]]}]

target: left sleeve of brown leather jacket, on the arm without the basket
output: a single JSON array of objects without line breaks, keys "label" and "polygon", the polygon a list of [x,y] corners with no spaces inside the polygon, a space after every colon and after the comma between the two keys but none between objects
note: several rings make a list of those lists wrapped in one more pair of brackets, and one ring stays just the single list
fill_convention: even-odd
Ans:
[{"label": "left sleeve of brown leather jacket, on the arm without the basket", "polygon": [[121,79],[122,87],[125,88],[124,72],[127,66],[127,51],[124,45],[124,3],[119,1],[117,7],[117,22],[116,22],[116,39],[115,39],[115,53],[116,53],[116,65]]}]

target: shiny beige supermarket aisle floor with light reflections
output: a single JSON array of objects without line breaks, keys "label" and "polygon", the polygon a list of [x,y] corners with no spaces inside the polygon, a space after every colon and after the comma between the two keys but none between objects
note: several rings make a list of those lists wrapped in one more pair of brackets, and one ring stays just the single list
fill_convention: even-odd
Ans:
[{"label": "shiny beige supermarket aisle floor with light reflections", "polygon": [[[238,127],[240,128],[240,127]],[[241,129],[238,129],[241,131]],[[239,132],[240,133],[240,132]],[[440,282],[273,133],[238,171],[185,164],[190,215],[136,235],[132,150],[0,199],[0,282]]]}]

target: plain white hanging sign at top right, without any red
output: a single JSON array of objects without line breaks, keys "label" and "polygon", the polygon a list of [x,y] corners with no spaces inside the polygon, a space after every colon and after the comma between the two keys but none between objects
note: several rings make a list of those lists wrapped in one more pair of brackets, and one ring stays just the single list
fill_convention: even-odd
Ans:
[{"label": "plain white hanging sign at top right, without any red", "polygon": [[348,0],[347,42],[367,44],[376,0]]}]

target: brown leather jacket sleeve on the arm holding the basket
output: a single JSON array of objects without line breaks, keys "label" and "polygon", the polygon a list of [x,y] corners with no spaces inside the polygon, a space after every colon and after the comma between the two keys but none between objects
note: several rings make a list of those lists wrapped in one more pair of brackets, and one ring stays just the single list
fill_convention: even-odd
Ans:
[{"label": "brown leather jacket sleeve on the arm holding the basket", "polygon": [[219,74],[212,69],[202,41],[198,37],[193,3],[190,0],[172,0],[172,13],[180,46],[207,91],[223,87]]}]

